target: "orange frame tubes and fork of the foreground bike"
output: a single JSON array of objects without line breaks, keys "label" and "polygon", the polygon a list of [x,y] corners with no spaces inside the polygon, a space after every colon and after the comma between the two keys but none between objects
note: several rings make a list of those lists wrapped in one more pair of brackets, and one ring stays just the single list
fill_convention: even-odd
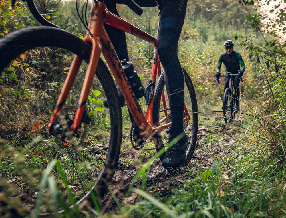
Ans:
[{"label": "orange frame tubes and fork of the foreground bike", "polygon": [[[135,93],[131,87],[131,84],[128,82],[128,78],[122,68],[120,60],[116,55],[114,47],[112,46],[112,43],[106,33],[106,30],[104,29],[104,23],[152,43],[155,47],[154,60],[152,65],[152,81],[153,82],[156,81],[157,70],[158,74],[160,75],[159,71],[160,62],[158,59],[158,53],[156,49],[157,39],[149,35],[148,33],[145,33],[144,31],[138,29],[137,27],[128,23],[127,21],[121,19],[120,17],[114,15],[110,11],[108,11],[104,3],[94,2],[91,9],[90,22],[88,24],[88,29],[90,30],[90,33],[92,35],[88,31],[86,37],[84,38],[84,41],[92,43],[92,53],[90,62],[88,64],[88,69],[86,72],[86,77],[84,80],[82,92],[80,94],[80,100],[78,103],[78,108],[75,114],[74,122],[71,126],[71,130],[75,131],[80,125],[80,121],[84,113],[84,109],[86,107],[85,103],[88,99],[88,93],[90,91],[92,79],[94,77],[96,66],[100,58],[100,53],[103,53],[103,56],[106,62],[108,63],[108,66],[110,67],[110,70],[118,86],[120,87],[120,90],[126,100],[126,103],[130,108],[130,111],[132,113],[132,116],[134,117],[136,124],[140,128],[143,128],[144,130],[148,129],[147,132],[144,131],[146,132],[145,138],[148,138],[150,135],[152,135],[152,132],[154,130],[154,128],[152,127],[152,110],[147,109],[147,111],[149,111],[149,113],[146,115],[146,118],[148,120],[147,121],[138,103]],[[62,92],[57,101],[57,105],[55,107],[53,116],[50,120],[49,127],[52,126],[52,122],[55,120],[56,114],[63,108],[64,102],[72,87],[72,84],[74,82],[74,77],[78,72],[81,62],[82,60],[80,60],[80,58],[78,58],[77,56],[72,62],[72,66],[70,68]],[[135,108],[136,110],[134,110]],[[152,108],[152,103],[148,105],[148,108]]]}]

